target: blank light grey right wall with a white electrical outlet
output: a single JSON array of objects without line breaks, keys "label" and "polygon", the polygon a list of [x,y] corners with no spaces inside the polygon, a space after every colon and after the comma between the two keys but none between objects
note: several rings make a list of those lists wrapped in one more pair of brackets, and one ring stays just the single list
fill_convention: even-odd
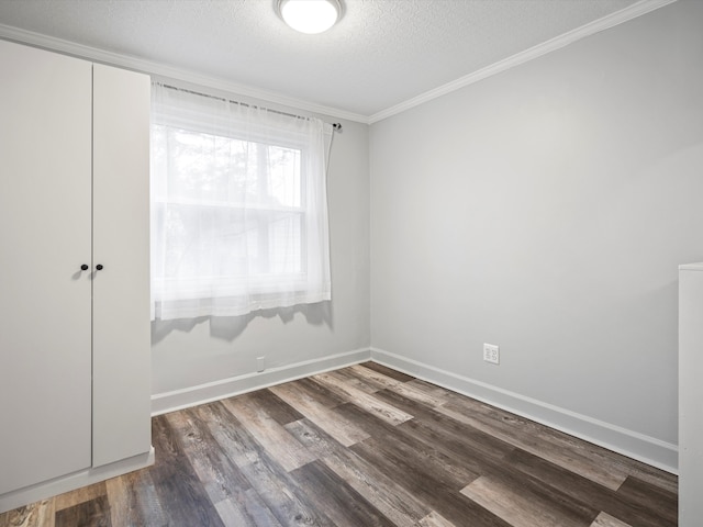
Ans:
[{"label": "blank light grey right wall with a white electrical outlet", "polygon": [[682,0],[372,125],[375,356],[674,447],[702,21]]}]

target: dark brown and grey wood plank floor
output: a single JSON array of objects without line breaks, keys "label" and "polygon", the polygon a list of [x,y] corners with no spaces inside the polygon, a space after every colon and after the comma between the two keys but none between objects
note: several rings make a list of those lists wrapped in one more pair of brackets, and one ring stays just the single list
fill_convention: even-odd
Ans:
[{"label": "dark brown and grey wood plank floor", "polygon": [[0,527],[677,525],[676,476],[375,363],[155,417],[153,442]]}]

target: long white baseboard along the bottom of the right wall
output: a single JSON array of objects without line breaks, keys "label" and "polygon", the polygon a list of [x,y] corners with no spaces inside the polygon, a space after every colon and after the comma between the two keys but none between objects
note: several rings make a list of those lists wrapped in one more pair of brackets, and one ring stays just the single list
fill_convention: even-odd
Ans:
[{"label": "long white baseboard along the bottom of the right wall", "polygon": [[628,458],[637,459],[667,472],[678,473],[679,449],[677,445],[382,349],[371,348],[371,360],[584,439]]}]

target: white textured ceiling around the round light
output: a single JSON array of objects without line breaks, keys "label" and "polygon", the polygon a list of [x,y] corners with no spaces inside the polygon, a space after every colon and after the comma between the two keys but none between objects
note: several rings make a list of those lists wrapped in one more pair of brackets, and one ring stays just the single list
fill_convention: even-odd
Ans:
[{"label": "white textured ceiling around the round light", "polygon": [[0,0],[0,24],[372,116],[637,3],[342,2],[319,35],[286,26],[276,0]]}]

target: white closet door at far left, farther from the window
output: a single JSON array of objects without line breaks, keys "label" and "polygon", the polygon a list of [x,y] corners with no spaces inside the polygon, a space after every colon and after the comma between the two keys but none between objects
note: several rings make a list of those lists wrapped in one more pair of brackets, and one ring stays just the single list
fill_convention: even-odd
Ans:
[{"label": "white closet door at far left, farther from the window", "polygon": [[0,41],[0,494],[91,462],[91,67]]}]

